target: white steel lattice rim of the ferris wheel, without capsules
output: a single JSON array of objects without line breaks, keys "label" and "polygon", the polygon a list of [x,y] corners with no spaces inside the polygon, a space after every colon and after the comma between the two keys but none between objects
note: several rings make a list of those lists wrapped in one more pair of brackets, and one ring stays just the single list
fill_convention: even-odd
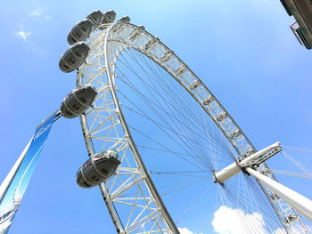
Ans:
[{"label": "white steel lattice rim of the ferris wheel, without capsules", "polygon": [[[80,117],[89,156],[111,148],[122,157],[116,173],[100,186],[104,202],[118,233],[178,233],[146,171],[120,108],[114,83],[119,53],[135,49],[165,69],[201,105],[241,159],[257,150],[209,89],[159,38],[129,23],[117,22],[103,28],[95,31],[88,41],[91,50],[78,70],[77,85],[91,83],[99,92],[94,108]],[[258,170],[276,181],[265,163]],[[288,233],[294,233],[295,229],[308,233],[293,208],[260,183],[259,186]]]}]

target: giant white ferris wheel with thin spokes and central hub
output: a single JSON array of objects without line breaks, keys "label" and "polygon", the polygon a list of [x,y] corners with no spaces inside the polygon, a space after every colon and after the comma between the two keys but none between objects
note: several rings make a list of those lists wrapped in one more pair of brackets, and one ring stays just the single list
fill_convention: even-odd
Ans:
[{"label": "giant white ferris wheel with thin spokes and central hub", "polygon": [[[276,181],[265,160],[282,150],[279,142],[257,151],[175,52],[127,16],[114,22],[115,15],[94,11],[80,21],[68,37],[70,52],[84,46],[87,56],[60,66],[78,69],[77,86],[92,85],[97,91],[93,108],[80,116],[92,158],[79,169],[81,176],[88,164],[95,165],[99,152],[111,149],[119,155],[110,176],[85,178],[84,186],[100,186],[117,232],[179,233],[185,214],[210,190],[217,190],[216,208],[234,211],[241,231],[237,233],[308,233],[291,207],[297,204],[266,182]],[[94,168],[103,177],[108,173]],[[161,174],[169,179],[159,179]],[[197,181],[177,189],[190,188],[193,198],[184,190],[179,195],[191,204],[175,213],[170,209],[173,201],[161,196],[163,183],[190,175]]]}]

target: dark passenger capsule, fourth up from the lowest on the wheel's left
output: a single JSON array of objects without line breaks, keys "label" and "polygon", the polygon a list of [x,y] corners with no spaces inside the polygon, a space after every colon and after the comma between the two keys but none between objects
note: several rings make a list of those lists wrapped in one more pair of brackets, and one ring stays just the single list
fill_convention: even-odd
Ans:
[{"label": "dark passenger capsule, fourth up from the lowest on the wheel's left", "polygon": [[67,41],[69,44],[75,44],[77,42],[86,41],[86,38],[90,36],[94,29],[94,23],[89,19],[84,19],[78,22],[78,24],[70,30]]}]

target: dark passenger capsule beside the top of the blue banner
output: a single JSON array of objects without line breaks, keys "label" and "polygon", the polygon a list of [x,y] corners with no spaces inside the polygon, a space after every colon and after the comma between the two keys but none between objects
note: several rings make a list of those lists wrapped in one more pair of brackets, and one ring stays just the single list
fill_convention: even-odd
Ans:
[{"label": "dark passenger capsule beside the top of the blue banner", "polygon": [[68,94],[61,105],[62,116],[78,117],[92,106],[97,92],[94,85],[81,85]]}]

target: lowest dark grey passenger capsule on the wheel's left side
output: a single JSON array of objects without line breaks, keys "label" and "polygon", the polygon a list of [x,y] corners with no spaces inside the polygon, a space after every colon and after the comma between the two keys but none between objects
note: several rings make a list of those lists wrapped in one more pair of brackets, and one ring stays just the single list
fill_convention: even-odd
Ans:
[{"label": "lowest dark grey passenger capsule on the wheel's left side", "polygon": [[76,181],[83,188],[99,185],[111,177],[120,163],[120,157],[116,150],[101,151],[81,165],[76,175]]}]

